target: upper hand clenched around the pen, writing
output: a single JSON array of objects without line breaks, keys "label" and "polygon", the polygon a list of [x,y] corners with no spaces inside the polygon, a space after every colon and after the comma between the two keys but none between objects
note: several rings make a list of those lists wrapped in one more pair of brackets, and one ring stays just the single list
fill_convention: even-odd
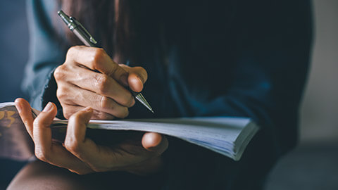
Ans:
[{"label": "upper hand clenched around the pen, writing", "polygon": [[125,118],[135,100],[130,91],[139,92],[147,80],[144,68],[118,65],[103,49],[73,46],[65,63],[54,71],[56,95],[65,118],[85,107],[92,107],[92,119]]}]

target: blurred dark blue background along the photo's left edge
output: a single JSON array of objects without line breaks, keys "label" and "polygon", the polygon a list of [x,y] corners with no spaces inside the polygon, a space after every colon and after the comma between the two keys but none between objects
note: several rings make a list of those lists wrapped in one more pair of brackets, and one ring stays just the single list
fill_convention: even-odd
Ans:
[{"label": "blurred dark blue background along the photo's left edge", "polygon": [[[29,34],[25,14],[25,0],[0,1],[0,103],[25,97],[20,91],[28,58]],[[24,164],[0,159],[0,189],[5,188]]]}]

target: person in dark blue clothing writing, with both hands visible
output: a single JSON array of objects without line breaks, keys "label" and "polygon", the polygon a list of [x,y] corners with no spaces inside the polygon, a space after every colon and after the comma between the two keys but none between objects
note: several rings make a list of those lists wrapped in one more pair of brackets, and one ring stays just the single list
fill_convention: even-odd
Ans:
[{"label": "person in dark blue clothing writing, with both hands visible", "polygon": [[[27,101],[15,105],[44,162],[29,163],[8,189],[263,189],[295,146],[310,1],[27,2],[23,88],[33,107],[46,107],[33,121]],[[58,22],[59,8],[104,49],[79,46]],[[155,114],[128,88],[142,91]],[[51,140],[55,116],[70,120],[62,145]],[[85,136],[90,118],[197,116],[249,117],[261,130],[238,162],[156,133],[111,146]]]}]

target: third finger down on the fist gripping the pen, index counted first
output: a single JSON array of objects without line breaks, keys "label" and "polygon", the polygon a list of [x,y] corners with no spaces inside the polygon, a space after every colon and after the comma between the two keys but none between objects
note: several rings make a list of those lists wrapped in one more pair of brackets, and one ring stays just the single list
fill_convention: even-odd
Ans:
[{"label": "third finger down on the fist gripping the pen, index counted first", "polygon": [[[63,91],[63,93],[59,93],[59,91]],[[58,99],[63,102],[63,105],[90,106],[94,108],[94,110],[114,115],[116,118],[125,118],[129,114],[127,107],[121,106],[113,99],[101,96],[92,91],[80,89],[73,85],[62,85],[62,87],[58,88],[57,94]],[[63,107],[63,109],[65,109],[65,107]]]}]

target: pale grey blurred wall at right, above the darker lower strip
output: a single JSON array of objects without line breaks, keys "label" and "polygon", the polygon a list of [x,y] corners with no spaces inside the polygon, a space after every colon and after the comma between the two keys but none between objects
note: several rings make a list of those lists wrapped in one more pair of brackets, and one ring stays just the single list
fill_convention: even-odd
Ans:
[{"label": "pale grey blurred wall at right, above the darker lower strip", "polygon": [[301,141],[338,140],[338,1],[313,1],[315,43],[301,109]]}]

